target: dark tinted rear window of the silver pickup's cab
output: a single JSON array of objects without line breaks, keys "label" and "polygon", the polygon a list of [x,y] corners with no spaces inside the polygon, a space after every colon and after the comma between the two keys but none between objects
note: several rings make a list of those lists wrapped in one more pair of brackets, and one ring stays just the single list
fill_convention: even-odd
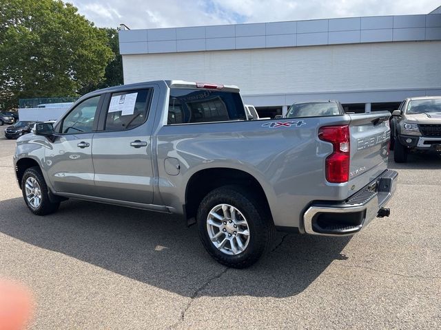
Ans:
[{"label": "dark tinted rear window of the silver pickup's cab", "polygon": [[240,94],[211,89],[170,89],[167,124],[246,120]]}]

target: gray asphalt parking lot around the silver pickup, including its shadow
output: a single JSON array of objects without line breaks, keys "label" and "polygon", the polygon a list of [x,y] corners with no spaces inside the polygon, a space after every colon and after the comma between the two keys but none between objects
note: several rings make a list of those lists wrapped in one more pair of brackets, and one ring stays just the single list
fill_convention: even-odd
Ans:
[{"label": "gray asphalt parking lot around the silver pickup, including its shadow", "polygon": [[247,270],[164,214],[70,200],[31,214],[0,127],[0,276],[32,289],[31,329],[440,329],[441,158],[411,155],[391,217],[352,238],[278,234]]}]

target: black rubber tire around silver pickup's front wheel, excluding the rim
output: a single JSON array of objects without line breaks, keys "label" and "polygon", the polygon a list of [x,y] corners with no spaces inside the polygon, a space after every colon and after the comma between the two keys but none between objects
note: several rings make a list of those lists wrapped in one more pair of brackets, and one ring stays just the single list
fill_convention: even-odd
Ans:
[{"label": "black rubber tire around silver pickup's front wheel, excluding the rim", "polygon": [[[38,207],[34,207],[30,204],[28,201],[28,197],[26,197],[26,181],[28,178],[33,177],[37,183],[39,184],[40,191],[41,191],[41,203]],[[23,199],[25,200],[26,205],[28,206],[30,212],[36,214],[36,215],[46,215],[51,214],[58,210],[60,206],[60,202],[52,203],[49,199],[49,189],[46,185],[46,182],[44,180],[43,175],[41,174],[40,169],[35,167],[30,167],[27,170],[25,170],[25,173],[23,174],[23,178],[21,179],[21,192],[23,192]]]}]

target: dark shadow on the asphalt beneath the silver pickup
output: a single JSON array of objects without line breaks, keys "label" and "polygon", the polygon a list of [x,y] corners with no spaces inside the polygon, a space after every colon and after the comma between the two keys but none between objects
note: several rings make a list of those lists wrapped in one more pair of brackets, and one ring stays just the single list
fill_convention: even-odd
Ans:
[{"label": "dark shadow on the asphalt beneath the silver pickup", "polygon": [[192,298],[299,294],[332,261],[347,259],[350,240],[278,233],[267,256],[234,270],[211,259],[195,226],[167,214],[71,200],[37,217],[21,198],[0,201],[0,210],[3,234]]}]

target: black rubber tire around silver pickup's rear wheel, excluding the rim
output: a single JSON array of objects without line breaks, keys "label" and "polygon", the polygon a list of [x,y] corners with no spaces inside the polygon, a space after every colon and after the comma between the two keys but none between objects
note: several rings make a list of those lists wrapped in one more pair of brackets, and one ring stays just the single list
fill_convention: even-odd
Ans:
[{"label": "black rubber tire around silver pickup's rear wheel, excluding the rim", "polygon": [[[215,206],[223,203],[234,206],[243,214],[248,223],[248,245],[239,254],[229,255],[221,252],[209,238],[207,230],[208,214]],[[201,202],[196,215],[199,237],[205,250],[216,261],[227,267],[245,268],[256,263],[271,247],[275,231],[271,215],[263,205],[264,203],[259,201],[252,191],[241,186],[223,186],[209,192]]]}]

